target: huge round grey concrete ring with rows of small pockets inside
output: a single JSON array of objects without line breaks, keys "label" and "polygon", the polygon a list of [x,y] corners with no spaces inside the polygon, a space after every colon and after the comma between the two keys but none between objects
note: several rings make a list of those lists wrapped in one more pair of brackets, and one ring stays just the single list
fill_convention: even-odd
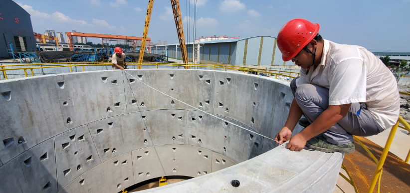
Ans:
[{"label": "huge round grey concrete ring with rows of small pockets inside", "polygon": [[334,191],[342,154],[291,152],[262,137],[284,125],[289,83],[225,71],[126,72],[2,80],[0,192],[117,193],[162,176],[194,178],[145,192]]}]

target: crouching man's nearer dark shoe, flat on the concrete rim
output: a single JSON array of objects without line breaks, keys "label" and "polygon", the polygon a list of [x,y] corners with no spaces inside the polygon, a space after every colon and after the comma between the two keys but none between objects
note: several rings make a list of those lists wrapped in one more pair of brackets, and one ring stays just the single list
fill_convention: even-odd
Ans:
[{"label": "crouching man's nearer dark shoe, flat on the concrete rim", "polygon": [[340,152],[349,154],[355,152],[355,144],[336,145],[326,141],[326,138],[323,136],[310,139],[306,142],[306,147],[326,153]]}]

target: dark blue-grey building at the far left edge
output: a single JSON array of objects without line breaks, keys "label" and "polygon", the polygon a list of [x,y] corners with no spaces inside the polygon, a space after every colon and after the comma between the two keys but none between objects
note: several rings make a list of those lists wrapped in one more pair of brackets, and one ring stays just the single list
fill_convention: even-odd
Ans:
[{"label": "dark blue-grey building at the far left edge", "polygon": [[8,58],[14,51],[34,50],[35,39],[30,14],[12,0],[0,3],[0,58]]}]

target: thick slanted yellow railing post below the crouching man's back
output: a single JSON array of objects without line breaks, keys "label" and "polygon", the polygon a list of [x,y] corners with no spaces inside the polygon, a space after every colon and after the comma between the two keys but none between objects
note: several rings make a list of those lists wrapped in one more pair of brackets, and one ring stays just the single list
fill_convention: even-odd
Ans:
[{"label": "thick slanted yellow railing post below the crouching man's back", "polygon": [[[401,117],[399,117],[399,120],[400,118]],[[369,187],[368,193],[373,193],[373,191],[375,190],[377,180],[378,178],[380,178],[380,175],[382,174],[381,173],[382,168],[383,168],[383,165],[385,164],[387,154],[389,153],[389,149],[390,149],[390,146],[392,145],[392,141],[393,141],[393,138],[395,137],[398,126],[399,126],[399,121],[397,121],[397,123],[392,127],[392,130],[390,131],[389,138],[387,138],[385,148],[383,149],[383,153],[380,156],[379,164],[377,165],[375,175],[373,176],[372,184]]]}]

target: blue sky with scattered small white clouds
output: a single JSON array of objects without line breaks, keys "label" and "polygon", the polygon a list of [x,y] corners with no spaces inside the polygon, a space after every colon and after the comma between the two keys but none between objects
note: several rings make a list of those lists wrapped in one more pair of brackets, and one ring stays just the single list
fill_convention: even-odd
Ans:
[{"label": "blue sky with scattered small white clouds", "polygon": [[[28,13],[34,32],[142,36],[148,0],[15,0]],[[180,0],[185,35],[194,0]],[[189,6],[187,6],[189,4]],[[190,11],[187,11],[190,7]],[[190,17],[188,17],[190,12]],[[284,23],[305,18],[319,23],[325,39],[371,51],[410,52],[410,0],[197,0],[197,38],[210,35],[277,36]],[[178,43],[170,0],[155,0],[148,32],[154,43]],[[99,39],[91,39],[99,42]]]}]

